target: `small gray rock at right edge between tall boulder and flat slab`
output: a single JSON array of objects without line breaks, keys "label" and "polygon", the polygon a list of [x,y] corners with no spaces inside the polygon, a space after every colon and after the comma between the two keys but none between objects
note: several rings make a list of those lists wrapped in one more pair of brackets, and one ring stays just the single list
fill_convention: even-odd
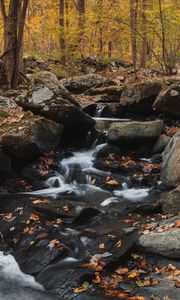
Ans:
[{"label": "small gray rock at right edge between tall boulder and flat slab", "polygon": [[164,213],[176,214],[180,212],[180,185],[161,197],[161,205]]}]

